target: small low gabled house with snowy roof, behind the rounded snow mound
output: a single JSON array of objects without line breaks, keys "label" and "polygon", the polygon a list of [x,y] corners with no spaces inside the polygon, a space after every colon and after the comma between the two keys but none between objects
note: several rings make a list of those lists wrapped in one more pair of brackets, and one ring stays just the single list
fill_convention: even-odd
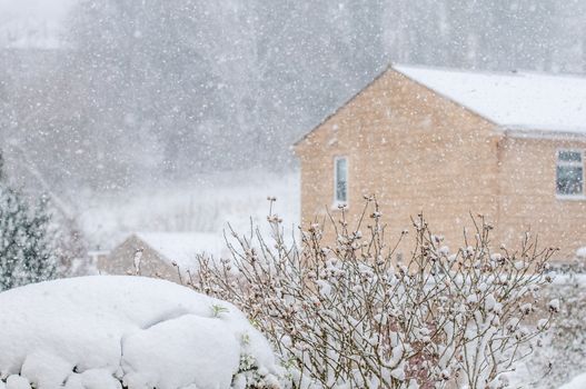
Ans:
[{"label": "small low gabled house with snowy roof, behind the rounded snow mound", "polygon": [[179,281],[197,268],[197,256],[213,258],[225,252],[224,238],[201,232],[137,232],[98,259],[98,270],[107,275],[136,275]]}]

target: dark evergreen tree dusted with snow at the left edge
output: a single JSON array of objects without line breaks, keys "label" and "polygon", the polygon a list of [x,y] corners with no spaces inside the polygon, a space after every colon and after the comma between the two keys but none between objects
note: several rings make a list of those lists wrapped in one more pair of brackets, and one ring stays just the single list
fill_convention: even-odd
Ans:
[{"label": "dark evergreen tree dusted with snow at the left edge", "polygon": [[54,278],[59,261],[47,198],[31,206],[0,177],[0,290]]}]

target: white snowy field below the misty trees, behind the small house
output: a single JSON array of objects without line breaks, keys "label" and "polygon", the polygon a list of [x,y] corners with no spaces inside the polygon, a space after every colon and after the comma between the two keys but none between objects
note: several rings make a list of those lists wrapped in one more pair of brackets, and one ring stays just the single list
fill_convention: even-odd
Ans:
[{"label": "white snowy field below the misty trees, behind the small house", "polygon": [[90,249],[111,249],[132,232],[211,232],[222,236],[227,223],[237,232],[250,221],[267,227],[267,197],[277,198],[274,212],[291,230],[299,223],[299,174],[246,171],[202,176],[181,186],[150,184],[109,196],[81,197],[81,228]]}]

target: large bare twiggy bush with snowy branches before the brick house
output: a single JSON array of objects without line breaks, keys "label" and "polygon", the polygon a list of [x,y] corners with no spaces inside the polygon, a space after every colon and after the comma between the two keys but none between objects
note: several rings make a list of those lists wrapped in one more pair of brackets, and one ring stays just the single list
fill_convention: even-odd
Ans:
[{"label": "large bare twiggy bush with snowy branches before the brick house", "polygon": [[314,225],[289,247],[269,216],[274,241],[232,232],[232,258],[201,258],[188,283],[240,307],[276,345],[295,387],[506,387],[504,373],[526,357],[519,346],[559,310],[557,300],[538,303],[554,249],[526,236],[518,251],[494,250],[480,217],[471,241],[451,252],[419,216],[413,256],[397,261],[381,219],[369,198],[356,228],[344,208],[331,220],[334,246]]}]

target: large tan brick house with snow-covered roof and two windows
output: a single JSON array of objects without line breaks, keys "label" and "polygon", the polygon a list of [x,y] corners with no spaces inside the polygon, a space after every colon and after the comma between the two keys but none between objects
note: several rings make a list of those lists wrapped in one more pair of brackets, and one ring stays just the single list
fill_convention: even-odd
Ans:
[{"label": "large tan brick house with snow-covered roof and two windows", "polygon": [[586,246],[583,77],[391,66],[295,150],[304,222],[375,193],[396,237],[423,211],[459,246],[473,212],[495,243],[530,229],[560,259]]}]

